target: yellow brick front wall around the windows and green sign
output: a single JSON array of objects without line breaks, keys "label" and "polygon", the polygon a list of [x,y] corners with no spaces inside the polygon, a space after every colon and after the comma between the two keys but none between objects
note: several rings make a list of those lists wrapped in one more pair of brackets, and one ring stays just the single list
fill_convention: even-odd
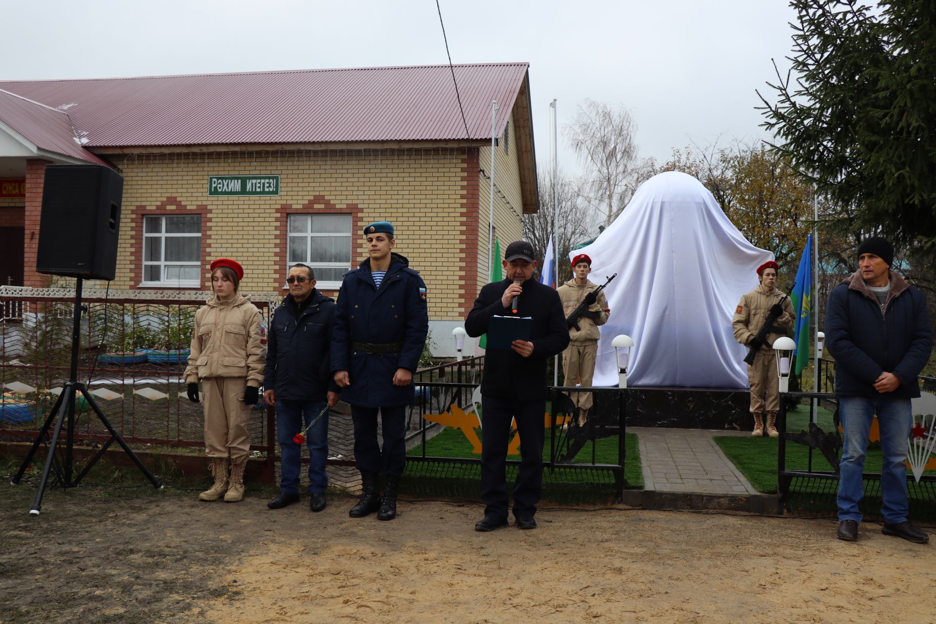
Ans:
[{"label": "yellow brick front wall around the windows and green sign", "polygon": [[[511,147],[513,144],[511,140]],[[514,150],[497,157],[502,169],[497,172],[498,185],[519,207],[519,190],[515,190],[519,179],[509,181],[511,175],[517,177]],[[135,212],[203,206],[210,218],[210,223],[204,218],[202,222],[203,236],[210,234],[201,258],[203,285],[210,285],[207,267],[213,258],[232,257],[245,269],[242,289],[278,290],[285,274],[285,242],[277,238],[282,236],[277,221],[278,217],[282,221],[282,207],[299,209],[311,202],[314,210],[321,210],[328,202],[335,210],[350,211],[344,210],[348,205],[360,210],[352,232],[353,266],[366,257],[357,225],[391,221],[396,227],[395,251],[409,258],[410,266],[420,270],[427,283],[430,318],[461,319],[465,298],[462,275],[451,267],[459,259],[464,239],[460,221],[465,210],[461,197],[466,183],[462,181],[465,158],[466,150],[454,148],[111,154],[111,162],[124,176],[118,272],[111,288],[139,286],[139,267],[135,265],[142,254],[142,217]],[[208,196],[211,175],[271,174],[280,176],[280,196]],[[486,183],[479,187],[487,193]],[[479,243],[486,248],[487,200],[481,203],[483,224],[479,229],[484,240]],[[509,215],[502,214],[506,209],[498,210],[498,223],[504,221],[498,226],[502,241],[514,233],[519,238],[519,221],[512,224]],[[134,227],[136,237],[132,236]],[[282,263],[276,257],[278,250],[284,254]],[[103,284],[89,283],[89,287],[98,285]],[[473,300],[475,295],[468,297]]]}]

